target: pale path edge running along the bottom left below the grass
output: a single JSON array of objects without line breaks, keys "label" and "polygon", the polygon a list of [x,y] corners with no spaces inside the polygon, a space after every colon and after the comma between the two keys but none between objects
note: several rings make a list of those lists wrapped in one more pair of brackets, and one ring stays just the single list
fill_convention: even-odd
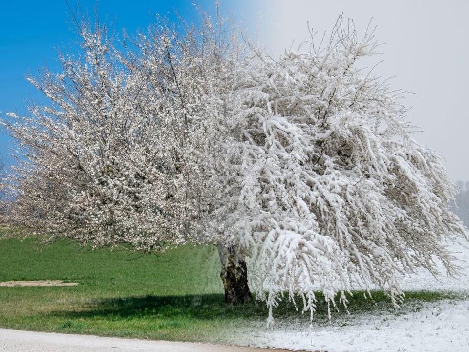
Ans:
[{"label": "pale path edge running along the bottom left below the grass", "polygon": [[[0,352],[285,352],[190,342],[148,341],[0,329]],[[304,352],[304,351],[303,351]]]}]

